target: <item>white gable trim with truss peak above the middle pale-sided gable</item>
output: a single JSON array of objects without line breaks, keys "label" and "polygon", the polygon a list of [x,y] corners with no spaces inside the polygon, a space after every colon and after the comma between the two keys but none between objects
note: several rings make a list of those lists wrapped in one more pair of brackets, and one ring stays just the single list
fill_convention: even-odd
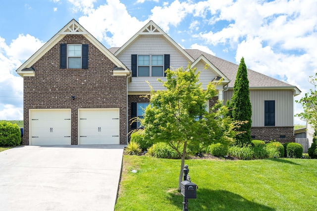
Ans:
[{"label": "white gable trim with truss peak above the middle pale-sided gable", "polygon": [[128,42],[126,42],[122,47],[120,47],[115,53],[115,56],[118,56],[123,52],[132,42],[136,41],[142,35],[160,35],[166,39],[171,45],[173,45],[181,54],[183,54],[188,61],[191,63],[195,61],[179,44],[173,41],[163,30],[159,28],[152,20],[147,23],[138,33],[136,33]]}]

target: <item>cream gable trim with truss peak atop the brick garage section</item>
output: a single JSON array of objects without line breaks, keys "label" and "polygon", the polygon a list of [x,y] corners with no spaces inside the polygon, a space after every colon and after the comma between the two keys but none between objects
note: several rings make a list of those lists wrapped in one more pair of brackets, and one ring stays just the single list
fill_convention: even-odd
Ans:
[{"label": "cream gable trim with truss peak atop the brick garage section", "polygon": [[93,43],[106,57],[108,57],[115,65],[113,75],[130,75],[129,69],[115,57],[101,42],[92,36],[84,27],[82,27],[76,20],[72,19],[66,26],[64,26],[51,40],[46,42],[36,53],[34,53],[28,60],[26,60],[16,72],[20,76],[34,76],[34,69],[32,65],[36,63],[45,53],[47,53],[57,42],[59,42],[66,35],[83,35],[87,40]]}]

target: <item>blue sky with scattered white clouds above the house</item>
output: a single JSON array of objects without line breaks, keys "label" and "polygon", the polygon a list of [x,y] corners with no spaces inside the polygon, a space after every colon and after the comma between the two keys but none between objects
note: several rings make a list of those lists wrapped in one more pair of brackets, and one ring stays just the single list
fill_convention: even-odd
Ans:
[{"label": "blue sky with scattered white clouds above the house", "polygon": [[23,119],[15,70],[73,18],[106,47],[153,20],[186,49],[237,64],[243,56],[248,68],[303,94],[317,71],[316,0],[7,0],[0,9],[0,120]]}]

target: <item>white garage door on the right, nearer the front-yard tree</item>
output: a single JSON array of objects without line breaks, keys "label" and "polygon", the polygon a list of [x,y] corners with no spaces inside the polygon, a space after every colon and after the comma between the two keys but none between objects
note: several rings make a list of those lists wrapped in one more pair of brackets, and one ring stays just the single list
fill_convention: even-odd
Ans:
[{"label": "white garage door on the right, nearer the front-yard tree", "polygon": [[119,109],[79,109],[79,144],[119,144]]}]

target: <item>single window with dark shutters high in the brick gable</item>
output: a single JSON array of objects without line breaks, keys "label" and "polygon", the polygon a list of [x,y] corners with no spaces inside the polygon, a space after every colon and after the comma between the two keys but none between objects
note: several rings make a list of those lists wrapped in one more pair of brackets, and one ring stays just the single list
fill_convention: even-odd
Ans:
[{"label": "single window with dark shutters high in the brick gable", "polygon": [[60,68],[88,69],[88,44],[60,44]]}]

